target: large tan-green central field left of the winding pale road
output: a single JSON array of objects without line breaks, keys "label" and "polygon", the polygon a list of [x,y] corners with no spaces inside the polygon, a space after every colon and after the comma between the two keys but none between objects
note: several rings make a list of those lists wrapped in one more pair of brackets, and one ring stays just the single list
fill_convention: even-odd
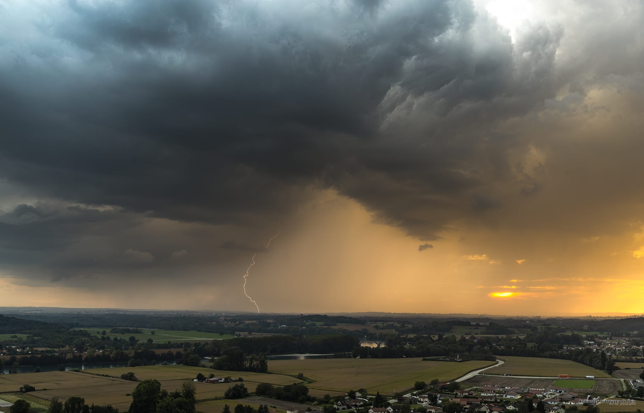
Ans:
[{"label": "large tan-green central field left of the winding pale road", "polygon": [[317,360],[274,360],[269,371],[298,374],[315,380],[310,389],[348,391],[367,389],[370,393],[412,389],[415,381],[429,383],[431,379],[450,381],[471,370],[493,365],[493,361],[422,361],[421,358],[353,359],[331,358]]}]

